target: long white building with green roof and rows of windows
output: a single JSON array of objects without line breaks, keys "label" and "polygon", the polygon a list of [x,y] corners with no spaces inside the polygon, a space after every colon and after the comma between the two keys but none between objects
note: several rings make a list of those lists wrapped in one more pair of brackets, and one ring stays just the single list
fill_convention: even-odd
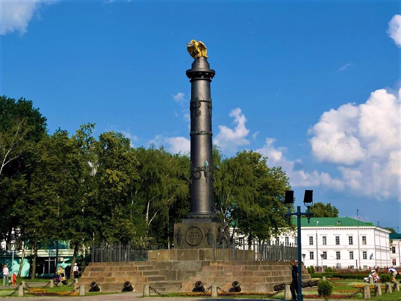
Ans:
[{"label": "long white building with green roof and rows of windows", "polygon": [[[301,218],[303,261],[306,266],[364,270],[391,266],[389,234],[389,230],[348,217],[311,218],[309,224]],[[293,242],[298,243],[296,233],[279,237],[280,244]]]}]

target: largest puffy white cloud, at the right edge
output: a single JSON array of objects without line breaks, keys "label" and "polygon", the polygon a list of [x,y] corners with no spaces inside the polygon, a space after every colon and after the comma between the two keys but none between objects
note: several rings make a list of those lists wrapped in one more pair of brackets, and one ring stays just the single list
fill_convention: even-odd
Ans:
[{"label": "largest puffy white cloud, at the right edge", "polygon": [[312,154],[337,164],[345,187],[377,199],[398,196],[401,201],[399,95],[376,90],[364,104],[324,112],[310,129]]}]

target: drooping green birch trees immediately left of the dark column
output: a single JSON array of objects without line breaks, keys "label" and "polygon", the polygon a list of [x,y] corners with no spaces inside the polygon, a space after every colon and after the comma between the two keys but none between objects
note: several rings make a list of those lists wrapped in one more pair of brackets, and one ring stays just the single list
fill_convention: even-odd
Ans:
[{"label": "drooping green birch trees immediately left of the dark column", "polygon": [[144,207],[148,240],[169,248],[172,224],[189,207],[189,158],[154,146],[137,148],[136,155],[140,165],[134,195]]}]

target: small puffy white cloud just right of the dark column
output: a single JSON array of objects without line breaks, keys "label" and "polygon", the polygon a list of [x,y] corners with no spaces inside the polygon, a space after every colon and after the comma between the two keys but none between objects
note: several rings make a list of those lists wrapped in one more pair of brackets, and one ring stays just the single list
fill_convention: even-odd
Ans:
[{"label": "small puffy white cloud just right of the dark column", "polygon": [[223,150],[236,150],[238,146],[249,144],[249,140],[245,138],[249,134],[249,130],[245,126],[247,119],[241,112],[241,109],[235,108],[231,110],[230,117],[234,117],[233,124],[236,124],[235,128],[231,129],[227,126],[219,126],[219,133],[213,142]]}]

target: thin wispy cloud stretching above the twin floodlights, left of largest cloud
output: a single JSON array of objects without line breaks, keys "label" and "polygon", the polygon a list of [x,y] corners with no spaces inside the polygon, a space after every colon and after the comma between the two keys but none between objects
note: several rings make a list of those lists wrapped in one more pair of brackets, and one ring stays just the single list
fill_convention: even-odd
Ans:
[{"label": "thin wispy cloud stretching above the twin floodlights, left of largest cloud", "polygon": [[286,159],[283,155],[286,148],[275,148],[273,146],[274,142],[274,139],[266,138],[263,148],[257,149],[256,152],[269,158],[267,159],[267,164],[269,166],[281,166],[290,178],[292,187],[314,187],[323,185],[335,190],[344,189],[342,181],[340,179],[333,179],[328,173],[319,173],[316,170],[308,173],[302,169],[296,169],[296,165],[302,165],[302,160],[297,159],[291,161]]}]

